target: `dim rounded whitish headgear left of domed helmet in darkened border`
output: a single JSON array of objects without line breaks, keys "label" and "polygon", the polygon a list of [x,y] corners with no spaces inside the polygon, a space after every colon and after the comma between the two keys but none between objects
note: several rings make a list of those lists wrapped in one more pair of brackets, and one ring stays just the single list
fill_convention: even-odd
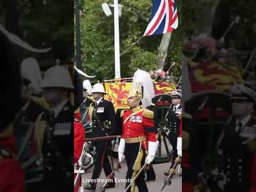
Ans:
[{"label": "dim rounded whitish headgear left of domed helmet in darkened border", "polygon": [[36,91],[40,91],[39,87],[42,84],[42,76],[38,62],[33,57],[24,59],[20,66],[21,77],[31,82],[31,85]]}]

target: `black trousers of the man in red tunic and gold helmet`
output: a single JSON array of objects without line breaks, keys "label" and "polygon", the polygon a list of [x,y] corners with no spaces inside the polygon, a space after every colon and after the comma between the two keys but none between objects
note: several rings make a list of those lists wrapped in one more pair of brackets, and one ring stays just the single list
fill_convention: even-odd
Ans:
[{"label": "black trousers of the man in red tunic and gold helmet", "polygon": [[[139,142],[125,143],[124,155],[125,155],[127,168],[128,168],[127,173],[126,173],[126,179],[132,178],[132,174],[134,171],[132,169],[132,167],[137,158],[139,148],[140,148]],[[143,159],[142,159],[141,166],[143,166],[144,163],[145,163],[145,157],[143,157]],[[140,173],[139,177],[135,180],[135,185],[139,188],[139,192],[148,192],[148,188],[147,188],[144,178],[145,178],[145,172],[142,171]],[[130,182],[126,183],[125,189],[127,188],[127,186],[129,186],[129,184],[130,184]],[[128,191],[131,192],[131,188]]]}]

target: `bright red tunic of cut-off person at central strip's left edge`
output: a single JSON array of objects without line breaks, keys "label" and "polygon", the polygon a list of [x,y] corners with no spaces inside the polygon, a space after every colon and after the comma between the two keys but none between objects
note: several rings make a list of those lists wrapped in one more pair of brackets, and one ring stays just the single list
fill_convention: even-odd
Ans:
[{"label": "bright red tunic of cut-off person at central strip's left edge", "polygon": [[[80,122],[81,114],[79,111],[75,111],[74,115],[74,163],[78,162],[79,157],[82,154],[83,146],[84,146],[84,139],[85,139],[85,131],[83,124]],[[76,178],[76,174],[74,175]],[[81,183],[81,179],[78,181]],[[81,185],[76,185],[74,191],[77,192]]]}]

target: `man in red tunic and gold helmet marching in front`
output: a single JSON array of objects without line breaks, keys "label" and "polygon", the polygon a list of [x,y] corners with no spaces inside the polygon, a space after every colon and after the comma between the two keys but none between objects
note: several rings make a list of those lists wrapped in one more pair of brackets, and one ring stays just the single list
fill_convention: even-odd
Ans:
[{"label": "man in red tunic and gold helmet marching in front", "polygon": [[[119,162],[124,157],[127,163],[126,187],[135,177],[144,163],[150,164],[155,157],[158,141],[154,128],[153,111],[141,107],[142,92],[140,89],[132,89],[128,95],[129,110],[121,111],[123,133],[118,148]],[[145,160],[146,156],[146,160]],[[148,188],[144,180],[145,173],[141,173],[132,184],[129,191],[135,190],[135,185],[140,192],[147,192]]]}]

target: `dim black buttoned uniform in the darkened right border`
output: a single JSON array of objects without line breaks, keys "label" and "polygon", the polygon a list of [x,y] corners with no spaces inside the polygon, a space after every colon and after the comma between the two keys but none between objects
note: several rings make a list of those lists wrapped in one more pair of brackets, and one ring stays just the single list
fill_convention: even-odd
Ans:
[{"label": "dim black buttoned uniform in the darkened right border", "polygon": [[225,129],[225,134],[220,148],[223,151],[223,171],[227,175],[224,191],[250,191],[251,170],[253,154],[248,150],[247,138],[242,138],[239,133],[243,129],[254,129],[256,119],[251,119],[246,125],[236,131],[236,118]]}]

